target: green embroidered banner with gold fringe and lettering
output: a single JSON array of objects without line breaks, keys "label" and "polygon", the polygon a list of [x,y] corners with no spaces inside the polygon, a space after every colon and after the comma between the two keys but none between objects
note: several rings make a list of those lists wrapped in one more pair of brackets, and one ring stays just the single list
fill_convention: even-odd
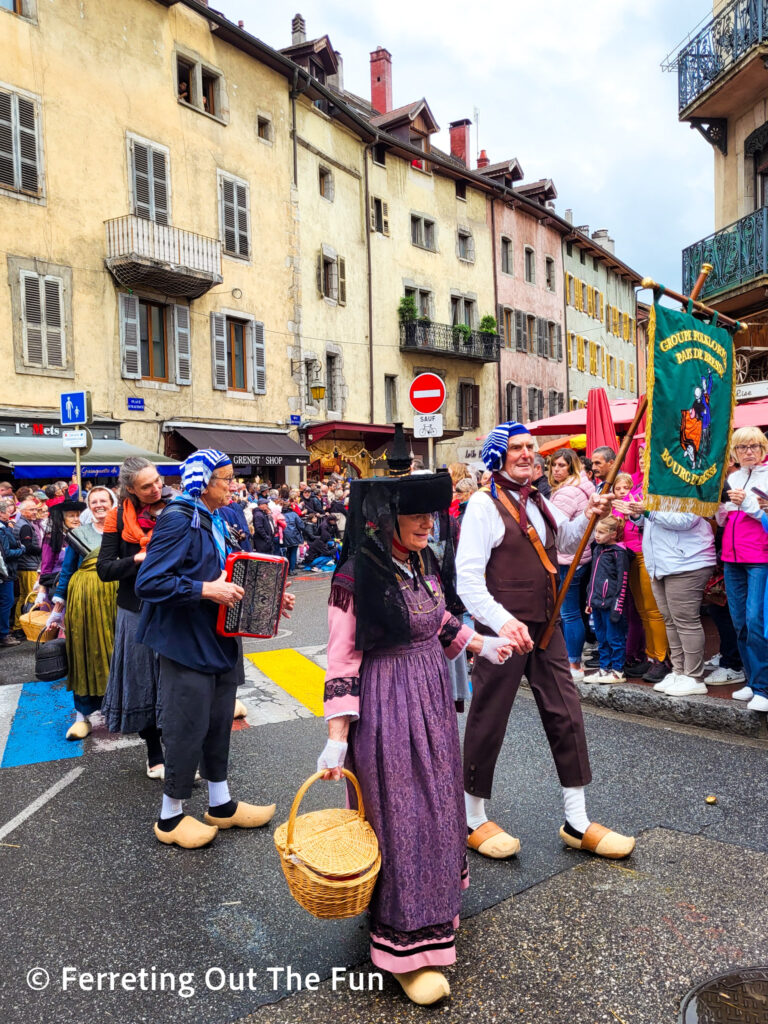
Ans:
[{"label": "green embroidered banner with gold fringe and lettering", "polygon": [[715,514],[728,465],[734,386],[728,331],[656,303],[648,323],[647,508]]}]

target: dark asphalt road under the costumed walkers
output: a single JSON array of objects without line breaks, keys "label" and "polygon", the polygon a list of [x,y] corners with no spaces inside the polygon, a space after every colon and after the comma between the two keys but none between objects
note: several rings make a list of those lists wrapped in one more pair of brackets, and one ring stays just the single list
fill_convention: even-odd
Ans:
[{"label": "dark asphalt road under the costumed walkers", "polygon": [[[290,635],[253,650],[323,646],[328,581],[295,589]],[[259,717],[270,688],[264,679],[248,691],[252,727],[232,735],[230,784],[236,798],[275,800],[276,823],[313,770],[325,727],[282,691],[272,718]],[[637,851],[608,864],[562,847],[557,778],[522,693],[492,805],[522,851],[505,863],[472,855],[454,995],[433,1011],[411,1007],[388,978],[382,992],[349,988],[345,970],[361,971],[364,987],[371,971],[365,918],[319,922],[303,911],[271,826],[223,833],[202,851],[160,846],[152,823],[161,787],[143,774],[140,746],[87,740],[66,760],[0,768],[0,1018],[675,1021],[685,991],[708,973],[768,963],[765,749],[589,710],[586,721],[588,810],[638,835]],[[46,727],[39,723],[41,736]],[[306,807],[342,800],[340,786],[315,785]],[[199,787],[189,810],[205,806]],[[334,968],[336,990],[327,980]],[[299,992],[311,974],[317,990]]]}]

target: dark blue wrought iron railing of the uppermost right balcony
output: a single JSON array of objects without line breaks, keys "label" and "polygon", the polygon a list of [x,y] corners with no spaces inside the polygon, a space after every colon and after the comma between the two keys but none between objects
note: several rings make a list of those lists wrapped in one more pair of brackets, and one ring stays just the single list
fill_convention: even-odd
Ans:
[{"label": "dark blue wrought iron railing of the uppermost right balcony", "polygon": [[732,0],[678,53],[678,109],[685,110],[766,38],[768,0]]}]

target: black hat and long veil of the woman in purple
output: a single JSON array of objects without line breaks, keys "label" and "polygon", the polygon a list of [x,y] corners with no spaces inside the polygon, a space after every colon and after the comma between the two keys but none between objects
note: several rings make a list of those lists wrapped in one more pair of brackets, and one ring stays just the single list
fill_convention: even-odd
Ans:
[{"label": "black hat and long veil of the woman in purple", "polygon": [[[452,497],[447,473],[352,481],[344,546],[331,587],[331,604],[348,608],[353,601],[357,650],[410,642],[408,608],[392,561],[397,516],[440,512],[449,507]],[[428,573],[439,574],[428,548],[421,558],[414,553],[411,566],[415,587],[426,586],[422,560]]]}]

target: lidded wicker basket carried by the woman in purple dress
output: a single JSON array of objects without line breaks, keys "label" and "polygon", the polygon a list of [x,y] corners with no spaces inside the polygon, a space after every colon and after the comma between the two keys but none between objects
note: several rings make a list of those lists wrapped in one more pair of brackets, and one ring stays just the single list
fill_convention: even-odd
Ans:
[{"label": "lidded wicker basket carried by the woman in purple dress", "polygon": [[323,772],[311,775],[296,794],[288,821],[274,833],[274,845],[293,898],[315,918],[354,918],[371,902],[381,868],[379,843],[366,821],[362,794],[354,775],[342,769],[357,794],[357,808],[311,811],[297,817],[299,804]]}]

